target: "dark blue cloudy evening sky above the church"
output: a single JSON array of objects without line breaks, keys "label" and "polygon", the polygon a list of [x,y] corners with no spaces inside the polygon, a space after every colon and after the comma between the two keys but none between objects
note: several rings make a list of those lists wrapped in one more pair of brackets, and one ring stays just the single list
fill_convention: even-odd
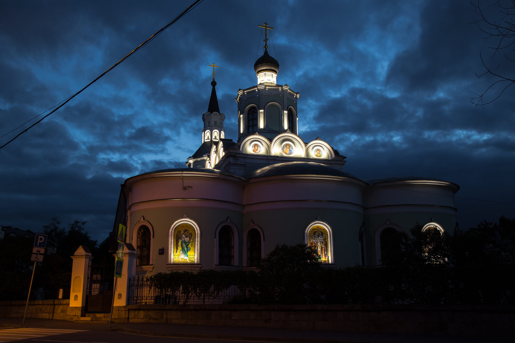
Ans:
[{"label": "dark blue cloudy evening sky above the church", "polygon": [[[192,2],[1,2],[0,135],[77,92]],[[458,184],[461,228],[514,217],[515,88],[484,108],[470,99],[494,81],[475,76],[480,52],[506,73],[515,67],[490,61],[494,42],[469,24],[476,17],[467,0],[205,0],[0,150],[0,225],[40,231],[57,216],[86,220],[104,239],[125,178],[184,167],[200,145],[213,62],[235,140],[234,98],[256,84],[265,21],[278,83],[300,92],[304,141],[328,141],[363,179]]]}]

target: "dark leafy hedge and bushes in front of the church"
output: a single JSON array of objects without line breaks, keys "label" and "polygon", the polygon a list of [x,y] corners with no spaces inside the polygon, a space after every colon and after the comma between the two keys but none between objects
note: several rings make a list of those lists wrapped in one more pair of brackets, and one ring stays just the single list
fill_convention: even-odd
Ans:
[{"label": "dark leafy hedge and bushes in front of the church", "polygon": [[182,286],[186,298],[235,285],[240,293],[231,302],[238,303],[515,303],[515,219],[454,237],[417,224],[385,244],[383,267],[323,269],[310,247],[281,245],[257,272],[160,273],[150,282],[174,292]]}]

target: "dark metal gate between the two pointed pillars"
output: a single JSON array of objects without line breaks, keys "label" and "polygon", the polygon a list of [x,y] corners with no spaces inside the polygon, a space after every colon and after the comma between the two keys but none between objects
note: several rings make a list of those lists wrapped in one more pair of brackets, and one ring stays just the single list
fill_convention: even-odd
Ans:
[{"label": "dark metal gate between the two pointed pillars", "polygon": [[[112,262],[112,263],[110,263]],[[113,300],[114,260],[91,264],[88,270],[86,312],[111,312]]]}]

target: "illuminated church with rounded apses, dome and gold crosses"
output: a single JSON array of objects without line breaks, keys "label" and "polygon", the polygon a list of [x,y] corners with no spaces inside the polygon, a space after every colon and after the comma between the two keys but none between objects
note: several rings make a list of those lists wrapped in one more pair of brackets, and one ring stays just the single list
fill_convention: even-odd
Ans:
[{"label": "illuminated church with rounded apses, dome and gold crosses", "polygon": [[186,167],[135,175],[122,185],[115,226],[127,226],[136,275],[251,269],[277,245],[298,243],[313,246],[325,267],[376,266],[392,232],[409,232],[418,222],[452,234],[458,185],[412,176],[363,180],[344,170],[346,157],[323,132],[301,138],[300,94],[277,83],[279,63],[267,46],[273,28],[260,27],[257,84],[237,91],[229,115],[237,139],[225,136],[213,64],[200,147]]}]

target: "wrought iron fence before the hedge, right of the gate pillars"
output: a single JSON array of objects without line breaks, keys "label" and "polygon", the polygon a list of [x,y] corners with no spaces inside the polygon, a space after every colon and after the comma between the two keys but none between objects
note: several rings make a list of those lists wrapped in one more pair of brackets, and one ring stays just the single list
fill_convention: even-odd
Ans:
[{"label": "wrought iron fence before the hedge, right of the gate pillars", "polygon": [[196,294],[180,286],[177,290],[153,286],[148,278],[129,279],[129,304],[223,304],[242,292],[237,286],[225,290]]}]

